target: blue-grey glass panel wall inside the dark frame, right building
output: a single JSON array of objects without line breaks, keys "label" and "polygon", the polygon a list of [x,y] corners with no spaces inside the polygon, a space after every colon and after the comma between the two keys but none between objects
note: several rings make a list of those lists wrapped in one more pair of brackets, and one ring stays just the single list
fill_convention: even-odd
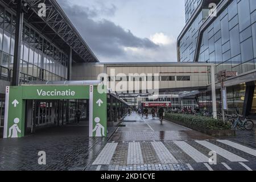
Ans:
[{"label": "blue-grey glass panel wall inside the dark frame, right building", "polygon": [[216,64],[216,73],[255,69],[256,3],[233,0],[204,31],[200,62]]}]

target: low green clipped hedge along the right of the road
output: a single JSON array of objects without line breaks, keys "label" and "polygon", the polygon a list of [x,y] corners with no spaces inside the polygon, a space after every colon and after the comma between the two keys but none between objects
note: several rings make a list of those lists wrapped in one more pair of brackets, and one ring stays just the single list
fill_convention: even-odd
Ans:
[{"label": "low green clipped hedge along the right of the road", "polygon": [[183,122],[190,126],[207,130],[230,130],[231,126],[220,119],[205,117],[202,115],[165,113],[164,119]]}]

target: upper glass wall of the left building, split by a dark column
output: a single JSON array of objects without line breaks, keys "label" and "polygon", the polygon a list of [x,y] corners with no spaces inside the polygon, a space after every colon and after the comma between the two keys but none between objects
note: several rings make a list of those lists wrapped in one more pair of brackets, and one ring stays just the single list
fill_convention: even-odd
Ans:
[{"label": "upper glass wall of the left building, split by a dark column", "polygon": [[[59,81],[67,79],[68,55],[24,22],[20,78]],[[0,6],[0,65],[13,69],[15,15]]]}]

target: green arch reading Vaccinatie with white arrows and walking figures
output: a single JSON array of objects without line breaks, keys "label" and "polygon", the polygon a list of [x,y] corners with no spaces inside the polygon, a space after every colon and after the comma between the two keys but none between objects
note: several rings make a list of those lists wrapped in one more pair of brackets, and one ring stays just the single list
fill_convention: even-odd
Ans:
[{"label": "green arch reading Vaccinatie with white arrows and walking figures", "polygon": [[89,137],[107,135],[107,94],[98,85],[23,85],[6,87],[3,138],[24,137],[26,100],[89,99]]}]

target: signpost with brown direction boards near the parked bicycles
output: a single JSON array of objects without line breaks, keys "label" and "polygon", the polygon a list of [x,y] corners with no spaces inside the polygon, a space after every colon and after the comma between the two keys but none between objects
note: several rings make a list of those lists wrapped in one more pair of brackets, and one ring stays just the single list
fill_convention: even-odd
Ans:
[{"label": "signpost with brown direction boards near the parked bicycles", "polygon": [[226,78],[238,76],[237,72],[234,71],[221,71],[217,74],[217,80],[221,84],[221,110],[222,110],[222,119],[225,122],[225,110],[228,110],[228,102],[226,98],[226,88],[224,87],[224,81]]}]

